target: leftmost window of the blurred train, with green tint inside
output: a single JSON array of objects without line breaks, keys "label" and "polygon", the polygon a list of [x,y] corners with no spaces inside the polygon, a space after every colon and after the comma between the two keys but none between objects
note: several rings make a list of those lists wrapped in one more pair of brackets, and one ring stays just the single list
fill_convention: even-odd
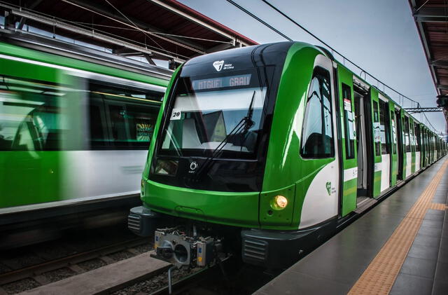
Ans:
[{"label": "leftmost window of the blurred train, with green tint inside", "polygon": [[0,80],[0,151],[60,149],[64,97],[59,85],[11,76]]}]

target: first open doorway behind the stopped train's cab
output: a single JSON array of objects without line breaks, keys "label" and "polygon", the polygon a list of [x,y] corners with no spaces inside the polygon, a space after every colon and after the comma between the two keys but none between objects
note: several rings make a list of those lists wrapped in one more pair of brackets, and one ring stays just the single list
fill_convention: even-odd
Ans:
[{"label": "first open doorway behind the stopped train's cab", "polygon": [[367,122],[368,116],[368,87],[362,82],[354,79],[353,81],[353,105],[355,108],[356,125],[356,163],[358,166],[356,181],[356,206],[360,207],[370,197],[369,184],[367,182],[368,174],[368,151],[367,151]]}]

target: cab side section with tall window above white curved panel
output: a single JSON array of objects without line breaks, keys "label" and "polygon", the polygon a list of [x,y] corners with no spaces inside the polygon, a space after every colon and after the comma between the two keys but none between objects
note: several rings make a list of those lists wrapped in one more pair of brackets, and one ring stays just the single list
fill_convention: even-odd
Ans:
[{"label": "cab side section with tall window above white curved panel", "polygon": [[[302,129],[300,157],[303,172],[314,177],[307,188],[302,184],[296,191],[304,191],[299,228],[319,224],[336,217],[341,196],[341,163],[339,149],[339,107],[335,76],[337,66],[324,55],[317,55],[307,93]],[[311,175],[311,174],[309,174]]]}]

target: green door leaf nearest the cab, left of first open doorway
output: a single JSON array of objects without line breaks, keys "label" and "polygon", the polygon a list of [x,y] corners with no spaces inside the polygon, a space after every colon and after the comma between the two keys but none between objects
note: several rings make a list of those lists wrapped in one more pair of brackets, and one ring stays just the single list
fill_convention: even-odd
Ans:
[{"label": "green door leaf nearest the cab, left of first open doorway", "polygon": [[[343,67],[341,64],[337,67],[337,78],[339,79],[339,109],[340,114],[345,113],[344,108],[344,99],[350,99],[350,107],[351,110],[355,109],[354,99],[353,99],[353,74],[349,69],[346,69],[346,67]],[[350,88],[350,98],[343,97],[343,91],[342,91],[342,83],[349,86]],[[353,150],[353,158],[347,158],[347,151],[346,151],[346,126],[347,123],[350,123],[348,120],[345,119],[345,114],[341,117],[341,128],[343,132],[341,132],[342,135],[342,170],[341,173],[343,175],[343,178],[345,176],[345,171],[348,171],[350,174],[350,171],[353,171],[353,173],[357,170],[354,170],[358,166],[358,149]],[[356,130],[356,128],[353,128],[353,130]],[[356,135],[358,136],[358,135]],[[355,141],[356,144],[356,141]],[[353,179],[342,179],[342,217],[346,216],[353,210],[356,210],[356,191],[358,186],[358,178],[355,177]]]}]

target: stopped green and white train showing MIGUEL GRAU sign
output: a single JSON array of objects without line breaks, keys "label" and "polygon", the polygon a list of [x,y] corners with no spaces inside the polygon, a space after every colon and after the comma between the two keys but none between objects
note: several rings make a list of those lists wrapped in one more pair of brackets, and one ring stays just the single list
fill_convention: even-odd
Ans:
[{"label": "stopped green and white train showing MIGUEL GRAU sign", "polygon": [[[327,50],[300,42],[189,60],[162,102],[128,226],[157,255],[286,266],[447,153]],[[162,227],[163,226],[163,227]]]}]

